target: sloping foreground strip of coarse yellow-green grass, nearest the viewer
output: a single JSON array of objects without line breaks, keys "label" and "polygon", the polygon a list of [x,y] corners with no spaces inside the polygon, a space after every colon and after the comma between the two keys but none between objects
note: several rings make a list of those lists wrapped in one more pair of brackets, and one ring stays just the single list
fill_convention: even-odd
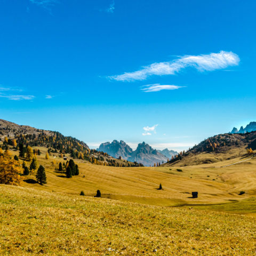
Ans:
[{"label": "sloping foreground strip of coarse yellow-green grass, nearest the viewer", "polygon": [[255,255],[255,218],[0,185],[2,255]]}]

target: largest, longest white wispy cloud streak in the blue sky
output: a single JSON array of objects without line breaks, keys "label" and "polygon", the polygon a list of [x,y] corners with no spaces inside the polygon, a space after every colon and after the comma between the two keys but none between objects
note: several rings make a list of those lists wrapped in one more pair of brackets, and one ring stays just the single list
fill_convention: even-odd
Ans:
[{"label": "largest, longest white wispy cloud streak in the blue sky", "polygon": [[237,66],[239,61],[240,59],[237,54],[226,51],[201,55],[185,55],[172,61],[152,63],[140,70],[109,76],[109,78],[116,81],[145,80],[153,75],[174,75],[188,67],[195,68],[199,72],[223,69],[229,66]]}]

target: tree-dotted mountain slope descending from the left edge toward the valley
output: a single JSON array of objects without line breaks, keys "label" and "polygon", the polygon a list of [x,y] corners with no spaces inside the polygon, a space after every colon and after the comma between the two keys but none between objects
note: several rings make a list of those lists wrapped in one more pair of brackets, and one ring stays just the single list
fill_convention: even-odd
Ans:
[{"label": "tree-dotted mountain slope descending from the left edge toward the valley", "polygon": [[69,156],[74,159],[89,161],[93,164],[108,166],[133,167],[138,163],[115,159],[102,151],[90,149],[85,142],[73,137],[66,137],[60,132],[36,129],[27,125],[18,125],[0,119],[0,141],[2,148],[6,147],[19,150],[20,157],[27,157],[31,161],[33,155],[39,155],[39,149],[31,147],[47,148],[46,157],[49,154],[57,154],[61,157]]}]

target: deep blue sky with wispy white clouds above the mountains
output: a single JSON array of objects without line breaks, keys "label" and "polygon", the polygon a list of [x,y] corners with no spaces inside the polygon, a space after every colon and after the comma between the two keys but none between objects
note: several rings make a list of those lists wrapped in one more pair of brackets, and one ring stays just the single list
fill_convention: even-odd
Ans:
[{"label": "deep blue sky with wispy white clouds above the mountains", "polygon": [[255,1],[0,5],[2,119],[177,150],[256,121]]}]

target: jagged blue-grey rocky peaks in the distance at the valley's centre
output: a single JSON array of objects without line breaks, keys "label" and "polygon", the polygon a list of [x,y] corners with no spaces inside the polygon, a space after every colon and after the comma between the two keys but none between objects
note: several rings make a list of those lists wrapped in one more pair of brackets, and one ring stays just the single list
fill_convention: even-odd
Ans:
[{"label": "jagged blue-grey rocky peaks in the distance at the valley's centre", "polygon": [[[110,156],[118,158],[121,156],[123,159],[131,162],[142,163],[146,166],[153,166],[155,163],[166,162],[171,156],[166,156],[156,149],[150,147],[146,142],[138,144],[136,150],[127,145],[124,141],[113,140],[113,142],[101,143],[100,147],[97,149],[99,151],[105,152]],[[166,154],[178,154],[173,150],[164,149]]]}]

